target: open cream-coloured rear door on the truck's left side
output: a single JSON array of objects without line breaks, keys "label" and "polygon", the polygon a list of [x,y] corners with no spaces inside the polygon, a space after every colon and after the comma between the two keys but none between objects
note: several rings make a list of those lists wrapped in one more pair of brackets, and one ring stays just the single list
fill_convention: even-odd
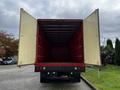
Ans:
[{"label": "open cream-coloured rear door on the truck's left side", "polygon": [[18,65],[34,64],[36,57],[37,20],[20,9]]}]

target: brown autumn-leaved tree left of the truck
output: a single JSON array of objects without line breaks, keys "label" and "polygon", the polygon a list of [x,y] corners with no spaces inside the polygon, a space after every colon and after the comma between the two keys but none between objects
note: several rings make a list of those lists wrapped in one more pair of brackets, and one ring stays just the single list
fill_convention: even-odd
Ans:
[{"label": "brown autumn-leaved tree left of the truck", "polygon": [[18,53],[18,40],[12,34],[0,31],[0,48],[4,47],[6,53],[0,57],[9,57],[17,55]]}]

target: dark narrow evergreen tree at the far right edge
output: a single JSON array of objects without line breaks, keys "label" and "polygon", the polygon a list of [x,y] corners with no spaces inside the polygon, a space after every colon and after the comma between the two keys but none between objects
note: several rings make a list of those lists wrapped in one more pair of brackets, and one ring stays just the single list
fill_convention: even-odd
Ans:
[{"label": "dark narrow evergreen tree at the far right edge", "polygon": [[120,41],[118,38],[115,41],[115,63],[120,65]]}]

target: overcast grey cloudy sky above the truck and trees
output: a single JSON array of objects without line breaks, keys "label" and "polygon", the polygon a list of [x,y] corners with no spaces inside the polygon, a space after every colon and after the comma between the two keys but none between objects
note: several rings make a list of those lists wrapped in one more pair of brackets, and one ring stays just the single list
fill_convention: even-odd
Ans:
[{"label": "overcast grey cloudy sky above the truck and trees", "polygon": [[100,10],[101,43],[120,36],[120,0],[0,0],[0,30],[19,35],[20,8],[35,18],[84,19]]}]

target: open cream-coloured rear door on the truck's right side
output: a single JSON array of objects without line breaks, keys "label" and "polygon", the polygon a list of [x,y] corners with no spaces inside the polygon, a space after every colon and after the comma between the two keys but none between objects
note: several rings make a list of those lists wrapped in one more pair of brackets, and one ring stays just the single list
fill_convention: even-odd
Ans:
[{"label": "open cream-coloured rear door on the truck's right side", "polygon": [[101,65],[99,9],[83,21],[84,27],[84,60],[86,64]]}]

